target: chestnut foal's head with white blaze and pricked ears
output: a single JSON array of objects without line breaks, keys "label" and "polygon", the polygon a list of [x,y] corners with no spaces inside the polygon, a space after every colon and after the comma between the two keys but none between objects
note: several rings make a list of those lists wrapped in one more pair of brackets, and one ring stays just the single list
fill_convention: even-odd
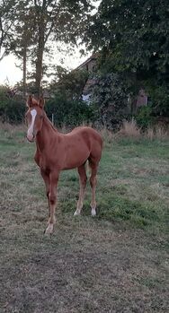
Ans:
[{"label": "chestnut foal's head with white blaze and pricked ears", "polygon": [[43,117],[44,117],[44,100],[40,98],[40,100],[35,100],[31,96],[29,96],[27,103],[27,107],[29,108],[26,112],[26,124],[28,126],[27,131],[27,139],[29,142],[33,142],[38,132],[40,132]]}]

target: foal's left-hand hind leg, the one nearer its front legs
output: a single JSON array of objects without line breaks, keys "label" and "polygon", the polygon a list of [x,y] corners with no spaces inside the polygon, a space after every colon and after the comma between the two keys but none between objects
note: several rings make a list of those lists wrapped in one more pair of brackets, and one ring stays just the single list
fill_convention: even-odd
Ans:
[{"label": "foal's left-hand hind leg, the one nearer its front legs", "polygon": [[74,215],[80,215],[81,210],[84,205],[84,191],[86,187],[86,181],[87,181],[87,176],[85,172],[85,165],[81,165],[78,169],[78,174],[79,174],[79,184],[80,184],[80,191],[79,191],[79,198],[77,201],[77,206],[76,206],[76,212]]}]

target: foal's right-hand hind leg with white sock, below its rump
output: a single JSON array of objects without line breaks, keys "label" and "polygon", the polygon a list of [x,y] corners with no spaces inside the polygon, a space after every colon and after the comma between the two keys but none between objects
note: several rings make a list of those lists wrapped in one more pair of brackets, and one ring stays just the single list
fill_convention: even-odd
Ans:
[{"label": "foal's right-hand hind leg with white sock, below its rump", "polygon": [[91,214],[92,216],[96,215],[96,201],[95,201],[95,188],[96,188],[96,184],[97,184],[97,179],[96,179],[96,175],[97,175],[97,169],[98,169],[98,164],[89,161],[89,166],[91,168],[91,177],[90,177],[90,185],[92,188],[92,201],[91,201]]}]

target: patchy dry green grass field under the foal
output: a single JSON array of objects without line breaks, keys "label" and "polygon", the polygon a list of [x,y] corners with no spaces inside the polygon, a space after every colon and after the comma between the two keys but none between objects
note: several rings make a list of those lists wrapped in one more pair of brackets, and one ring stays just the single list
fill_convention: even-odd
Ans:
[{"label": "patchy dry green grass field under the foal", "polygon": [[166,313],[167,140],[104,144],[94,218],[89,186],[82,216],[73,216],[78,177],[63,172],[49,238],[35,146],[22,138],[19,128],[0,131],[0,313]]}]

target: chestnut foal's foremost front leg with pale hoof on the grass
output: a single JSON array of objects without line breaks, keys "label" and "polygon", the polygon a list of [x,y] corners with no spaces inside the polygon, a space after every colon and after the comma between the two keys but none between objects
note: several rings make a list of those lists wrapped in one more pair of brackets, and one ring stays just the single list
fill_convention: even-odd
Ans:
[{"label": "chestnut foal's foremost front leg with pale hoof on the grass", "polygon": [[56,223],[55,209],[57,206],[57,186],[58,186],[58,171],[52,171],[49,174],[49,221],[48,227],[45,231],[46,234],[53,232],[53,226]]}]

